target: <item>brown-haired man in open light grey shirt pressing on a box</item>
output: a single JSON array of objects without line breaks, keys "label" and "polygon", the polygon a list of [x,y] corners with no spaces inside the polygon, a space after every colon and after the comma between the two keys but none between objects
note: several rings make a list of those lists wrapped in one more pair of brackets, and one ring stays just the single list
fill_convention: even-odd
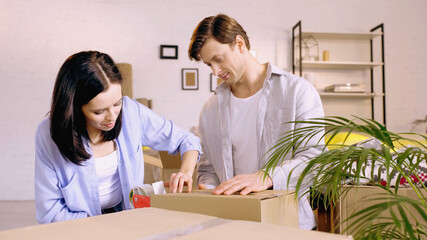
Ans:
[{"label": "brown-haired man in open light grey shirt pressing on a box", "polygon": [[[295,187],[298,172],[319,154],[309,149],[282,164],[263,181],[260,171],[282,133],[300,127],[289,121],[323,117],[320,97],[305,79],[270,63],[259,63],[249,52],[245,30],[223,14],[203,19],[195,28],[189,57],[203,61],[222,83],[200,114],[199,130],[204,155],[198,166],[199,188],[214,194],[240,194]],[[312,139],[313,143],[319,139]],[[300,228],[316,226],[307,196],[299,199]]]}]

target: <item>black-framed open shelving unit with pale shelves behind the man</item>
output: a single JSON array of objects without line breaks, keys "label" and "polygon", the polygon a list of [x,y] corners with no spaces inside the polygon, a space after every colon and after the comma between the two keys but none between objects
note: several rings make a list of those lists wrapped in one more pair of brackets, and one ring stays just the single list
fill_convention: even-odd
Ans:
[{"label": "black-framed open shelving unit with pale shelves behind the man", "polygon": [[[361,51],[360,55],[368,56],[370,59],[361,57],[360,59],[345,59],[346,54],[343,53],[341,59],[331,59],[331,61],[313,61],[303,59],[303,39],[313,37],[318,40],[319,47],[322,42],[327,41],[342,41],[352,43],[369,43],[369,48],[365,51]],[[379,44],[374,44],[374,41],[378,41]],[[353,50],[353,55],[357,55],[357,51],[344,45],[342,49],[338,49],[336,52],[345,52],[347,50]],[[330,44],[329,47],[333,48],[334,44]],[[379,47],[379,49],[374,49]],[[378,53],[379,52],[379,53]],[[351,55],[351,54],[350,54]],[[321,58],[320,52],[318,51],[317,57]],[[376,58],[374,61],[374,57]],[[310,71],[327,71],[328,74],[334,74],[334,72],[340,72],[347,74],[346,76],[361,75],[369,76],[367,83],[366,93],[334,93],[324,92],[319,90],[319,95],[322,99],[335,99],[339,104],[351,105],[359,104],[357,101],[364,101],[363,99],[370,100],[370,115],[372,119],[378,118],[378,108],[382,108],[382,121],[375,119],[379,122],[386,124],[386,102],[385,102],[385,64],[384,64],[384,25],[380,24],[370,30],[368,33],[336,33],[336,32],[303,32],[301,21],[299,21],[292,29],[292,72],[295,74],[299,73],[303,76],[304,72]],[[381,70],[381,71],[379,71]],[[362,73],[360,73],[362,71]],[[370,71],[370,72],[369,72]],[[358,73],[357,73],[358,72]],[[367,73],[365,73],[367,72]],[[357,73],[357,74],[356,74]],[[378,77],[378,75],[381,75]],[[350,77],[351,78],[351,77]],[[351,79],[350,79],[351,80]],[[359,79],[360,80],[360,79]],[[353,99],[353,100],[351,100]],[[361,99],[361,100],[357,100]],[[332,100],[334,101],[334,100]],[[359,104],[361,105],[361,104]],[[368,104],[369,105],[369,104]],[[369,107],[369,106],[366,106]],[[353,113],[355,114],[355,113]],[[356,114],[357,115],[357,114]]]}]

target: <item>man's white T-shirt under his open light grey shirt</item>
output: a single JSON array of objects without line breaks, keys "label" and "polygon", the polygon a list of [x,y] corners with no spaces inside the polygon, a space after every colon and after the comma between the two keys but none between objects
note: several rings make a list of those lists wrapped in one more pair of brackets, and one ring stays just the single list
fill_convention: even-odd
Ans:
[{"label": "man's white T-shirt under his open light grey shirt", "polygon": [[231,146],[234,175],[258,172],[256,124],[262,89],[248,98],[230,93]]}]

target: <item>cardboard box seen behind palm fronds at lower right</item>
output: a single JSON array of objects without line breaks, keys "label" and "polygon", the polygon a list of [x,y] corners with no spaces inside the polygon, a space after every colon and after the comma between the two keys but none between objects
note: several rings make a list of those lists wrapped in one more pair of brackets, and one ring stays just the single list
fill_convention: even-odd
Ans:
[{"label": "cardboard box seen behind palm fronds at lower right", "polygon": [[[344,188],[347,188],[347,187],[344,187]],[[354,220],[346,221],[341,225],[339,224],[339,222],[347,219],[348,217],[350,217],[353,213],[355,213],[357,211],[360,211],[360,210],[365,209],[369,206],[372,206],[374,204],[379,203],[379,201],[367,200],[367,199],[372,199],[372,198],[376,198],[376,197],[384,197],[381,195],[377,195],[377,194],[384,194],[384,193],[386,193],[386,192],[383,189],[381,189],[379,187],[375,187],[375,186],[359,186],[357,188],[355,188],[355,187],[350,188],[347,195],[341,197],[339,204],[336,206],[335,211],[334,211],[334,215],[335,215],[334,225],[338,226],[338,231],[336,231],[336,232],[348,234],[349,231],[344,232],[343,230],[346,229],[349,225],[351,225],[354,222]],[[401,196],[412,198],[412,199],[419,199],[412,188],[400,187],[398,194]],[[367,198],[367,197],[369,197],[369,198]],[[414,209],[411,209],[411,208],[410,208],[410,210],[412,211],[413,214],[415,214],[415,216],[418,219],[421,219],[421,216],[419,216],[418,212],[416,212]],[[396,209],[395,213],[398,213],[397,209]],[[384,212],[381,216],[390,217],[390,213]],[[415,224],[414,219],[410,219],[410,220],[412,220],[411,221],[412,224]],[[377,222],[379,222],[379,221],[377,221]]]}]

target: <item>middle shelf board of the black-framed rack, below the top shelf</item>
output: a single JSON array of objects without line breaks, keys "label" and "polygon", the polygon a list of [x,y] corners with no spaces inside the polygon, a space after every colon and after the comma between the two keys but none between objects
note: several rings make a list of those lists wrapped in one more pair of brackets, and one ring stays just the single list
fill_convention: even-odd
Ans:
[{"label": "middle shelf board of the black-framed rack, below the top shelf", "polygon": [[[318,69],[371,69],[382,66],[380,62],[338,62],[338,61],[302,61],[303,68],[318,68]],[[298,68],[299,65],[297,64]]]}]

